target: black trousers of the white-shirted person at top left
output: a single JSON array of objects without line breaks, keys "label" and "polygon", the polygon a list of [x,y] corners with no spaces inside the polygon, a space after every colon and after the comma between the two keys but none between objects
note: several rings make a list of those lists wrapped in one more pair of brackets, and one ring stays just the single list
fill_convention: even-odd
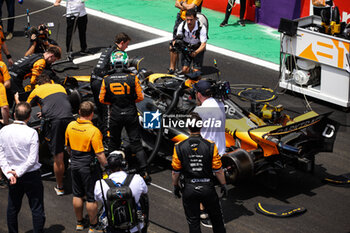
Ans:
[{"label": "black trousers of the white-shirted person at top left", "polygon": [[80,49],[85,50],[87,48],[87,44],[86,44],[86,28],[87,28],[87,22],[88,22],[87,15],[78,17],[74,28],[75,19],[76,19],[76,16],[67,17],[67,35],[66,35],[67,52],[72,51],[73,43],[71,44],[71,40],[77,26],[79,30]]}]

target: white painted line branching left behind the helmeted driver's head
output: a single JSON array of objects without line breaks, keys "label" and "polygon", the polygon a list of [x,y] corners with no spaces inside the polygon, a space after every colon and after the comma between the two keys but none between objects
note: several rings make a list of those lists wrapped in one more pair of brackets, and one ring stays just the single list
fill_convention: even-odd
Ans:
[{"label": "white painted line branching left behind the helmeted driver's head", "polygon": [[[160,37],[160,38],[156,38],[156,39],[152,39],[152,40],[148,40],[148,41],[144,41],[144,42],[140,42],[137,44],[132,44],[130,45],[126,51],[132,51],[132,50],[136,50],[136,49],[140,49],[140,48],[145,48],[148,46],[153,46],[156,44],[160,44],[160,43],[164,43],[166,41],[171,40],[172,37]],[[88,55],[88,56],[84,56],[84,57],[79,57],[73,60],[74,64],[80,64],[80,63],[84,63],[84,62],[88,62],[88,61],[93,61],[93,60],[97,60],[99,57],[101,56],[101,53],[95,53],[93,55]]]}]

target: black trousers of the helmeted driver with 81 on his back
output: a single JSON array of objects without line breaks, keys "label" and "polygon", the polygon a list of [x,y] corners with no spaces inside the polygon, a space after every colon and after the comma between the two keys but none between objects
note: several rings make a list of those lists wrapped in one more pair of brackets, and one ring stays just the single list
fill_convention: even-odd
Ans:
[{"label": "black trousers of the helmeted driver with 81 on his back", "polygon": [[146,154],[143,151],[141,136],[139,133],[139,122],[137,115],[114,115],[110,123],[110,142],[108,150],[112,152],[119,150],[121,146],[121,134],[125,127],[128,134],[132,152],[136,154],[138,168],[144,170],[147,167]]}]

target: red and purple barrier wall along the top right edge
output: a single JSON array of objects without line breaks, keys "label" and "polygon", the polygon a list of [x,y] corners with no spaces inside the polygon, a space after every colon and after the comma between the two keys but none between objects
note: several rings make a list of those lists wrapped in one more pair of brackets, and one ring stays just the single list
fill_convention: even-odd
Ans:
[{"label": "red and purple barrier wall along the top right edge", "polygon": [[[245,19],[255,23],[278,28],[280,18],[297,19],[313,14],[312,0],[260,0],[260,8],[255,0],[246,1]],[[341,20],[350,23],[350,0],[333,0],[339,8]],[[203,7],[225,13],[227,0],[204,0]],[[239,17],[240,1],[236,0],[232,14]]]}]

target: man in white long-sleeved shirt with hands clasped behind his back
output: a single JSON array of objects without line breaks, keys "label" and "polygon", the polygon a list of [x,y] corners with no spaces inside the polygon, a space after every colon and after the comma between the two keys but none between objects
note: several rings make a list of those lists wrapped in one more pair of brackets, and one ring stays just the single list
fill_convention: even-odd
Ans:
[{"label": "man in white long-sleeved shirt with hands clasped behind his back", "polygon": [[0,167],[10,181],[7,207],[8,232],[18,232],[18,213],[23,195],[32,210],[33,232],[44,231],[44,187],[39,163],[38,133],[27,126],[31,107],[20,102],[15,109],[15,121],[0,130]]}]

